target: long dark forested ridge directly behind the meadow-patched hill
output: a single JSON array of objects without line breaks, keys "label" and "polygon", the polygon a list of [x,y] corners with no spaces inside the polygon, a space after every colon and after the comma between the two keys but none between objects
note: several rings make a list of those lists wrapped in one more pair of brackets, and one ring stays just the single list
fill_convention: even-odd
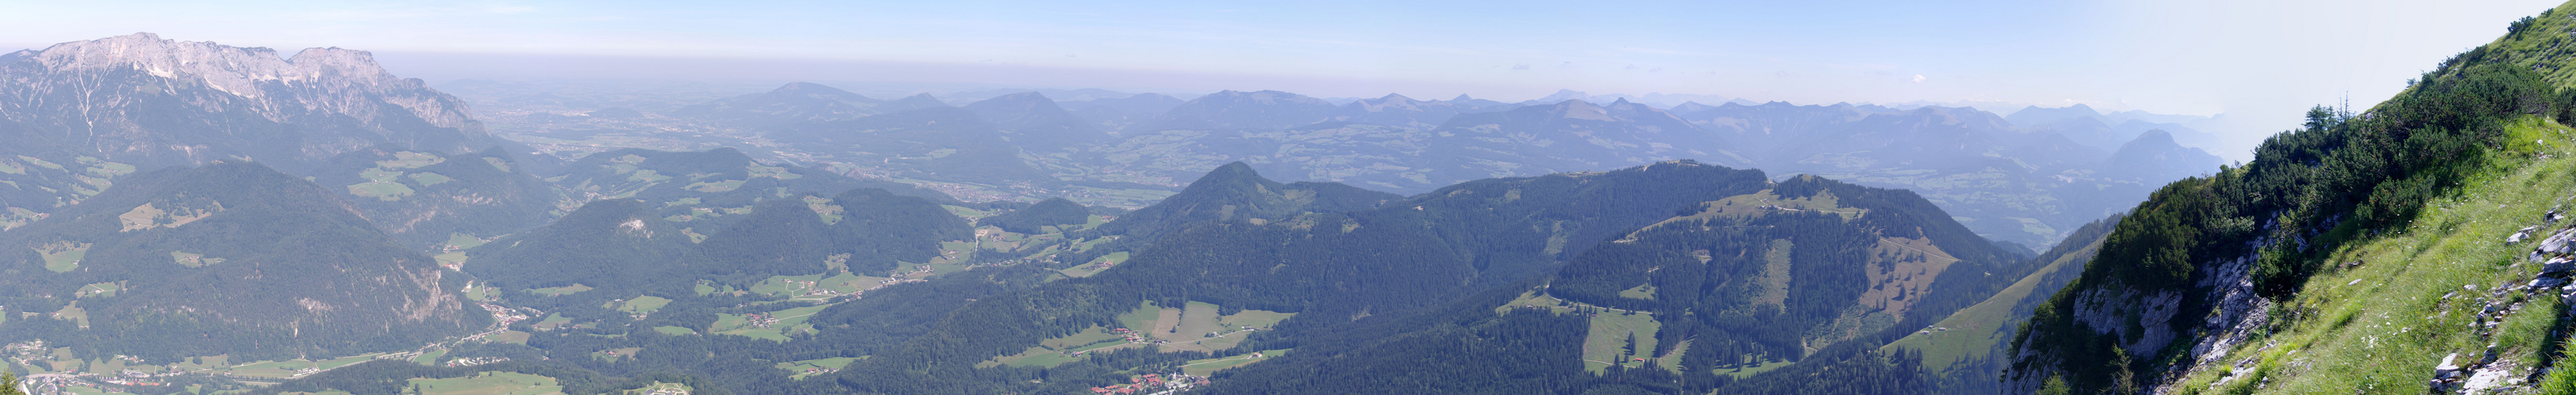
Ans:
[{"label": "long dark forested ridge directly behind the meadow-patched hill", "polygon": [[[1249,182],[1244,182],[1249,180]],[[1200,185],[1275,185],[1249,169],[1218,169]],[[1765,187],[1759,172],[1690,162],[1605,174],[1489,180],[1352,213],[1296,213],[1175,223],[1154,246],[1108,272],[1059,280],[956,310],[938,331],[840,372],[871,392],[984,392],[1054,377],[1036,367],[976,362],[1036,351],[1048,339],[1131,328],[1123,313],[1151,305],[1211,305],[1216,315],[1291,313],[1278,333],[1252,333],[1234,351],[1288,349],[1298,333],[1321,333],[1347,318],[1404,315],[1445,300],[1543,274],[1587,239],[1669,218],[1677,208]],[[1255,187],[1244,187],[1255,190]],[[1249,210],[1236,200],[1172,200],[1167,205]],[[1146,208],[1164,210],[1164,208]],[[1131,221],[1139,215],[1123,215]],[[1285,241],[1285,244],[1283,244]],[[1188,308],[1198,310],[1198,308]],[[1242,336],[1242,333],[1236,333]],[[1154,346],[1149,346],[1154,349]],[[1144,349],[1139,349],[1144,351]],[[1126,354],[1126,351],[1121,351]],[[1128,364],[1224,357],[1208,349],[1149,351]],[[912,367],[912,369],[907,369]],[[922,369],[927,367],[927,369]],[[1126,367],[1118,367],[1126,369]],[[1020,380],[1010,380],[1020,377]],[[1087,385],[1084,385],[1087,382]],[[1054,385],[1105,385],[1097,380]],[[1069,387],[1079,390],[1079,387]]]}]

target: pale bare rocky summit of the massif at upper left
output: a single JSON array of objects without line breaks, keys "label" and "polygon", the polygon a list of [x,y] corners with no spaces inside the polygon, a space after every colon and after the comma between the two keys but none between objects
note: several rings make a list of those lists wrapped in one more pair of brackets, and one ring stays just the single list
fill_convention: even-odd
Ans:
[{"label": "pale bare rocky summit of the massif at upper left", "polygon": [[384,72],[366,51],[242,49],[152,33],[0,54],[0,121],[21,149],[144,167],[258,159],[286,172],[343,151],[402,144],[492,146],[464,100]]}]

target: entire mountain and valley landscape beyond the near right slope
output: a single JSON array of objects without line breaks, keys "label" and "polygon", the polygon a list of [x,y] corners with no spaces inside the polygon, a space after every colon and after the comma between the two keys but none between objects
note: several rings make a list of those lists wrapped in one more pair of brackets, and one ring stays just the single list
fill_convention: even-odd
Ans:
[{"label": "entire mountain and valley landscape beyond the near right slope", "polygon": [[477,113],[363,51],[147,33],[0,77],[0,357],[276,392],[1904,387],[1935,369],[1880,346],[2215,169],[2089,108],[796,82]]}]

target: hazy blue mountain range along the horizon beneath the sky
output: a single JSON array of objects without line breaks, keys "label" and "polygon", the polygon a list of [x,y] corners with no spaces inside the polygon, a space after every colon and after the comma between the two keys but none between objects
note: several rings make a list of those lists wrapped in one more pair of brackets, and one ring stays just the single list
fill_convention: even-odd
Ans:
[{"label": "hazy blue mountain range along the horizon beneath the sky", "polygon": [[796,82],[649,118],[538,121],[582,128],[706,123],[783,144],[765,154],[770,159],[938,182],[984,198],[1061,195],[1092,205],[1144,205],[1198,169],[1229,162],[1288,180],[1425,192],[1484,177],[1700,159],[1919,190],[1978,233],[2025,246],[2048,246],[2154,185],[2221,164],[2187,146],[2210,139],[2182,126],[2195,118],[2105,115],[2084,105],[1996,115],[1741,100],[1656,108],[1571,90],[1530,103],[1386,95],[1342,105],[1278,90],[1193,100],[1082,95],[1090,100],[1010,92],[956,110],[930,95],[876,100]]}]

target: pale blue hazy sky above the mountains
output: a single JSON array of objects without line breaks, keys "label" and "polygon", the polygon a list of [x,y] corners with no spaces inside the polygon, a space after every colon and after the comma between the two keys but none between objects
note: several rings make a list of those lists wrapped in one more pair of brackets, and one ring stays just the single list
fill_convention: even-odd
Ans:
[{"label": "pale blue hazy sky above the mountains", "polygon": [[[1705,3],[52,3],[0,49],[137,31],[368,49],[394,74],[840,80],[1128,92],[2094,105],[2221,115],[2233,141],[2354,108],[2548,0]],[[2236,149],[2215,151],[2244,159]]]}]

